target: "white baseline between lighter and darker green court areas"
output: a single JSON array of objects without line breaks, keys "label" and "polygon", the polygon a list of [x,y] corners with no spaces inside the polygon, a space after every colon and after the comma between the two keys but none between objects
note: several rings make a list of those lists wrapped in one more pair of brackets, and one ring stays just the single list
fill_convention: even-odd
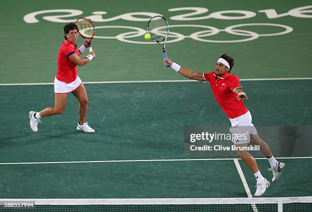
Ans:
[{"label": "white baseline between lighter and darker green court areas", "polygon": [[[272,80],[312,80],[312,77],[297,78],[249,78],[240,79],[240,81],[272,81]],[[84,84],[118,84],[118,83],[178,83],[178,82],[198,82],[195,80],[154,80],[154,81],[103,81],[103,82],[84,82]],[[205,83],[205,82],[204,82]],[[35,86],[35,85],[53,85],[54,83],[5,83],[0,86]]]}]

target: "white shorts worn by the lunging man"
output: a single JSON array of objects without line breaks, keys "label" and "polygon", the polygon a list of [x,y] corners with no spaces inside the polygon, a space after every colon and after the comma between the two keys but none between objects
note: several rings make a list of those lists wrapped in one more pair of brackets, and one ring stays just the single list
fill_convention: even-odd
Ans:
[{"label": "white shorts worn by the lunging man", "polygon": [[236,137],[234,144],[248,144],[250,142],[250,135],[257,134],[256,128],[251,123],[252,117],[249,111],[237,118],[229,120],[232,125],[229,131],[233,137]]}]

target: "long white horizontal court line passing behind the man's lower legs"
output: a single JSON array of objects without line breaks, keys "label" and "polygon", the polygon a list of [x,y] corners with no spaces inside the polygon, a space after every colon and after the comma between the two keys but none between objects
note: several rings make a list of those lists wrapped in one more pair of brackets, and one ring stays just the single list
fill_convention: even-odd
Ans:
[{"label": "long white horizontal court line passing behind the man's lower legs", "polygon": [[[275,157],[276,159],[308,159],[312,157]],[[267,160],[264,157],[255,158],[256,160]],[[124,162],[165,162],[165,161],[232,161],[241,158],[198,158],[198,159],[155,159],[155,160],[125,160],[125,161],[59,161],[59,162],[18,162],[0,163],[0,165],[20,165],[20,164],[85,164],[85,163],[124,163]]]}]

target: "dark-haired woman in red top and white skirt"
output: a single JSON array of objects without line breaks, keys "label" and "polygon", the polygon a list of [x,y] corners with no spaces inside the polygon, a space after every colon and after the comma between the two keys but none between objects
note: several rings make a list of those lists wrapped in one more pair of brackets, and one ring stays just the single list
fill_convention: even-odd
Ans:
[{"label": "dark-haired woman in red top and white skirt", "polygon": [[38,122],[41,117],[52,116],[55,114],[61,114],[65,110],[67,93],[72,93],[79,101],[79,123],[77,124],[77,130],[85,133],[94,133],[88,122],[86,122],[86,116],[88,111],[88,96],[87,91],[82,83],[80,77],[77,74],[76,66],[83,66],[89,63],[95,58],[94,51],[91,51],[85,58],[79,56],[88,47],[88,40],[85,40],[84,44],[77,49],[76,40],[78,39],[78,28],[75,23],[68,23],[64,26],[65,41],[60,47],[58,56],[58,71],[54,80],[54,92],[55,92],[55,105],[53,107],[47,107],[40,112],[29,112],[31,129],[38,131]]}]

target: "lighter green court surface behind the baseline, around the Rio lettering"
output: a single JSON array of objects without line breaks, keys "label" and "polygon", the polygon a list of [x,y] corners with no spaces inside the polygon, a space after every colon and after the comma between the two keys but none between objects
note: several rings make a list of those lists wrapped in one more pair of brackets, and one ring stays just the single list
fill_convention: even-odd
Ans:
[{"label": "lighter green court surface behind the baseline, around the Rio lettering", "polygon": [[[126,4],[126,7],[119,5]],[[263,78],[263,77],[311,77],[310,63],[308,56],[311,54],[310,38],[312,32],[311,17],[308,9],[299,9],[301,13],[288,12],[295,8],[309,6],[308,1],[224,1],[222,7],[220,1],[196,0],[191,3],[188,1],[157,1],[146,2],[134,0],[124,3],[121,0],[114,2],[103,2],[100,0],[92,1],[88,7],[84,7],[82,1],[31,1],[27,4],[21,0],[4,1],[0,11],[2,19],[9,20],[2,22],[1,25],[6,31],[0,34],[1,46],[7,46],[7,50],[1,53],[3,58],[0,67],[0,83],[47,83],[53,82],[57,70],[58,49],[63,42],[64,22],[75,20],[79,15],[61,18],[55,22],[46,20],[47,16],[70,15],[66,12],[50,12],[38,14],[35,18],[38,22],[25,22],[24,16],[33,12],[43,10],[79,10],[83,16],[93,15],[93,12],[104,11],[107,14],[102,18],[107,21],[94,21],[99,29],[96,36],[117,37],[122,33],[134,33],[140,28],[146,31],[148,16],[134,15],[141,18],[140,21],[133,21],[128,13],[152,12],[164,15],[169,22],[172,37],[175,39],[179,33],[190,36],[192,33],[206,31],[204,27],[213,26],[219,30],[227,26],[237,24],[251,24],[233,28],[231,34],[219,32],[216,35],[200,37],[206,40],[233,41],[244,40],[251,37],[256,39],[246,42],[233,43],[214,43],[198,41],[186,37],[185,39],[168,43],[168,57],[180,65],[190,67],[194,70],[212,70],[218,57],[227,53],[236,60],[233,72],[241,78]],[[22,7],[15,7],[22,5]],[[197,15],[190,15],[194,10],[169,11],[172,8],[196,7],[203,8]],[[202,10],[208,9],[208,12]],[[260,10],[275,9],[279,16],[269,16]],[[239,13],[222,13],[225,19],[221,19],[218,14],[226,10],[247,11],[247,17]],[[251,16],[249,15],[251,13]],[[221,14],[221,15],[222,15]],[[174,18],[183,15],[185,18]],[[211,17],[207,17],[211,15]],[[295,15],[295,16],[294,16]],[[119,18],[117,17],[119,16]],[[120,16],[123,16],[120,17]],[[231,17],[243,16],[243,18],[229,19]],[[303,17],[302,17],[303,16]],[[117,17],[117,18],[116,18]],[[188,20],[196,18],[199,20]],[[201,17],[201,18],[198,18]],[[275,18],[276,17],[276,18]],[[44,19],[45,18],[45,19]],[[112,19],[113,18],[113,19]],[[68,21],[66,21],[68,20]],[[281,24],[277,25],[255,25],[257,23]],[[180,26],[187,24],[188,26]],[[200,26],[198,26],[200,25]],[[111,26],[111,28],[100,28]],[[132,29],[124,29],[131,27]],[[292,32],[285,32],[284,27],[290,27]],[[237,31],[240,30],[240,31]],[[243,30],[243,32],[241,31]],[[240,35],[236,35],[239,33]],[[174,37],[175,36],[175,37]],[[143,43],[153,43],[145,41],[143,35],[133,38],[124,38],[129,41]],[[81,43],[81,42],[80,42]],[[81,45],[79,43],[79,45]],[[165,70],[162,63],[162,52],[158,44],[136,44],[119,41],[116,38],[102,39],[95,38],[93,49],[96,52],[97,60],[81,67],[79,72],[85,82],[88,81],[133,81],[133,80],[177,80],[183,79],[172,71]],[[86,54],[86,53],[85,53]],[[190,57],[192,56],[192,57]],[[298,75],[299,74],[299,75]]]}]

